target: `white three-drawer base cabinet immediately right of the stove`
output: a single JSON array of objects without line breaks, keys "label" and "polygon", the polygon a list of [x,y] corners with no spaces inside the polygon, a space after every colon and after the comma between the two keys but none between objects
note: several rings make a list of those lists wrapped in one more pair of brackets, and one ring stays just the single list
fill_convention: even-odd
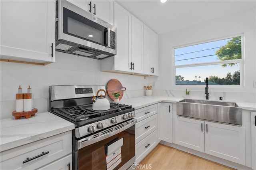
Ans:
[{"label": "white three-drawer base cabinet immediately right of the stove", "polygon": [[157,145],[157,104],[135,110],[135,164]]}]

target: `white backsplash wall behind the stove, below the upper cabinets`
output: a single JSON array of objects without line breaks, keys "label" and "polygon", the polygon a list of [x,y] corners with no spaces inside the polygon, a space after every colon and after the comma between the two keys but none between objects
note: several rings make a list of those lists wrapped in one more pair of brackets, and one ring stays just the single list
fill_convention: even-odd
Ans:
[{"label": "white backsplash wall behind the stove, below the upper cabinets", "polygon": [[[1,108],[0,118],[12,117],[16,110],[16,93],[19,85],[23,93],[28,85],[34,95],[34,107],[38,113],[48,110],[50,85],[107,85],[110,79],[118,79],[126,87],[124,98],[144,95],[143,86],[151,77],[105,73],[100,71],[100,60],[70,55],[56,51],[56,62],[41,66],[23,63],[0,62]],[[120,101],[122,103],[122,100]]]}]

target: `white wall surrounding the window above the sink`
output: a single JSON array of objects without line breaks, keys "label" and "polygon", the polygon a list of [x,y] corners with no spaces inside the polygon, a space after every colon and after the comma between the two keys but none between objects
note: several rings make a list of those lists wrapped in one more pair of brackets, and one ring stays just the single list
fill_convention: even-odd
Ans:
[{"label": "white wall surrounding the window above the sink", "polygon": [[189,28],[170,32],[159,36],[159,75],[156,89],[166,89],[170,96],[185,96],[186,88],[190,90],[190,97],[205,99],[204,87],[175,87],[174,69],[172,67],[172,48],[191,43],[200,43],[216,38],[225,38],[244,34],[244,87],[223,88],[209,87],[210,99],[246,101],[256,103],[256,10],[240,12],[216,20],[210,20]]}]

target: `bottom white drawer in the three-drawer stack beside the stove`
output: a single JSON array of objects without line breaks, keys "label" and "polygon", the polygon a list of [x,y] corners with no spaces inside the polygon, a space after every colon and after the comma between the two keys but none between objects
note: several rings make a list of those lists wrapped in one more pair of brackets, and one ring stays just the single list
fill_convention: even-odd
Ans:
[{"label": "bottom white drawer in the three-drawer stack beside the stove", "polygon": [[155,130],[152,132],[150,135],[148,135],[146,138],[141,140],[135,145],[135,156],[136,156],[136,161],[135,164],[140,163],[140,161],[145,158],[147,154],[149,154],[154,147],[156,146],[157,142],[157,134]]}]

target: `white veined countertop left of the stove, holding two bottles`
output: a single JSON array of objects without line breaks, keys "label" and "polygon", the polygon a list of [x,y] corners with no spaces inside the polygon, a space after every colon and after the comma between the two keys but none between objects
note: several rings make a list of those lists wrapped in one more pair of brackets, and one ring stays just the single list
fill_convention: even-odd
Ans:
[{"label": "white veined countertop left of the stove, holding two bottles", "polygon": [[74,129],[74,124],[52,113],[36,113],[29,119],[0,120],[0,152]]}]

